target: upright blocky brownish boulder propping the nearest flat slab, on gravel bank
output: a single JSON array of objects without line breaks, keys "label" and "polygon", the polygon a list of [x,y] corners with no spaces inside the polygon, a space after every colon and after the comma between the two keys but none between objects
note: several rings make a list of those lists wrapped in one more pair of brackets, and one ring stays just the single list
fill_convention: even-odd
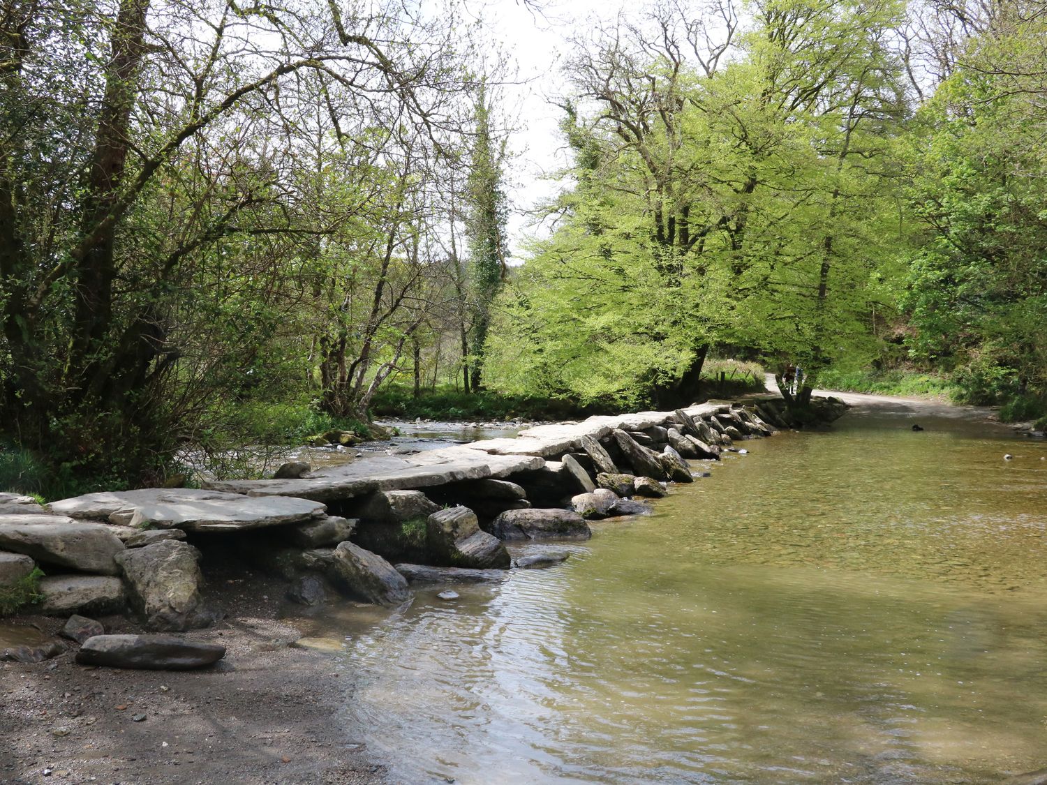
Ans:
[{"label": "upright blocky brownish boulder propping the nearest flat slab, on gravel bank", "polygon": [[199,551],[178,540],[131,548],[117,557],[131,605],[144,616],[147,629],[182,631],[213,621],[201,609],[199,560]]}]

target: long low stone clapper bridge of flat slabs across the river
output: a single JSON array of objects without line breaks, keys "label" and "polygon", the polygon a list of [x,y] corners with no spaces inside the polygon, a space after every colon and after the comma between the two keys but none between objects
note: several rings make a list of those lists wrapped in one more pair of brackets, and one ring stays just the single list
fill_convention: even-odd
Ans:
[{"label": "long low stone clapper bridge of flat slabs across the river", "polygon": [[[284,579],[295,602],[319,604],[333,591],[396,606],[410,598],[410,583],[500,580],[512,566],[562,561],[564,554],[550,553],[514,564],[504,541],[586,539],[586,519],[649,512],[634,497],[692,481],[686,458],[715,459],[733,442],[787,427],[774,399],[750,405],[592,417],[296,478],[91,493],[46,509],[2,494],[0,589],[39,563],[43,613],[129,613],[154,632],[205,627],[217,614],[202,601],[198,546],[226,535],[220,539],[236,536],[248,562]],[[847,408],[837,399],[822,406],[824,419]],[[104,663],[94,650],[107,637],[129,636],[80,641],[82,660]],[[2,651],[0,659],[61,650],[50,642]],[[204,658],[214,661],[213,653]],[[120,661],[136,660],[113,664]]]}]

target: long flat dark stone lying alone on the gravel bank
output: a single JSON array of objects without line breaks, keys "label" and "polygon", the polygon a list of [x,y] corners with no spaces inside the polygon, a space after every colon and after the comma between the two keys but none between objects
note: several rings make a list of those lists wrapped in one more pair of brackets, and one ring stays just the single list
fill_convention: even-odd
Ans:
[{"label": "long flat dark stone lying alone on the gravel bank", "polygon": [[174,635],[95,635],[84,642],[76,661],[109,668],[187,671],[214,665],[224,656],[224,646]]}]

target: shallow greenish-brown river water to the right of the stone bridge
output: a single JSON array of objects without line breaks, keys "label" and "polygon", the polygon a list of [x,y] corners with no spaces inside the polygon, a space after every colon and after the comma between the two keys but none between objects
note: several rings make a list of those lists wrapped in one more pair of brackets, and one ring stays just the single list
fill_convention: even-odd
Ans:
[{"label": "shallow greenish-brown river water to the right of the stone bridge", "polygon": [[1047,445],[881,404],[744,446],[653,516],[596,524],[563,565],[315,620],[357,676],[343,720],[391,780],[1047,766]]}]

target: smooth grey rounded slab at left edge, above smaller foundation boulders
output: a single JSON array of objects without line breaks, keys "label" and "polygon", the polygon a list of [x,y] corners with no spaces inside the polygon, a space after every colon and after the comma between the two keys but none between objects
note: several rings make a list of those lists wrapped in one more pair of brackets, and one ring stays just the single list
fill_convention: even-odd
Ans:
[{"label": "smooth grey rounded slab at left edge, above smaller foundation boulders", "polygon": [[0,517],[0,547],[83,573],[116,575],[113,557],[124,543],[105,523],[63,515],[5,515]]}]

